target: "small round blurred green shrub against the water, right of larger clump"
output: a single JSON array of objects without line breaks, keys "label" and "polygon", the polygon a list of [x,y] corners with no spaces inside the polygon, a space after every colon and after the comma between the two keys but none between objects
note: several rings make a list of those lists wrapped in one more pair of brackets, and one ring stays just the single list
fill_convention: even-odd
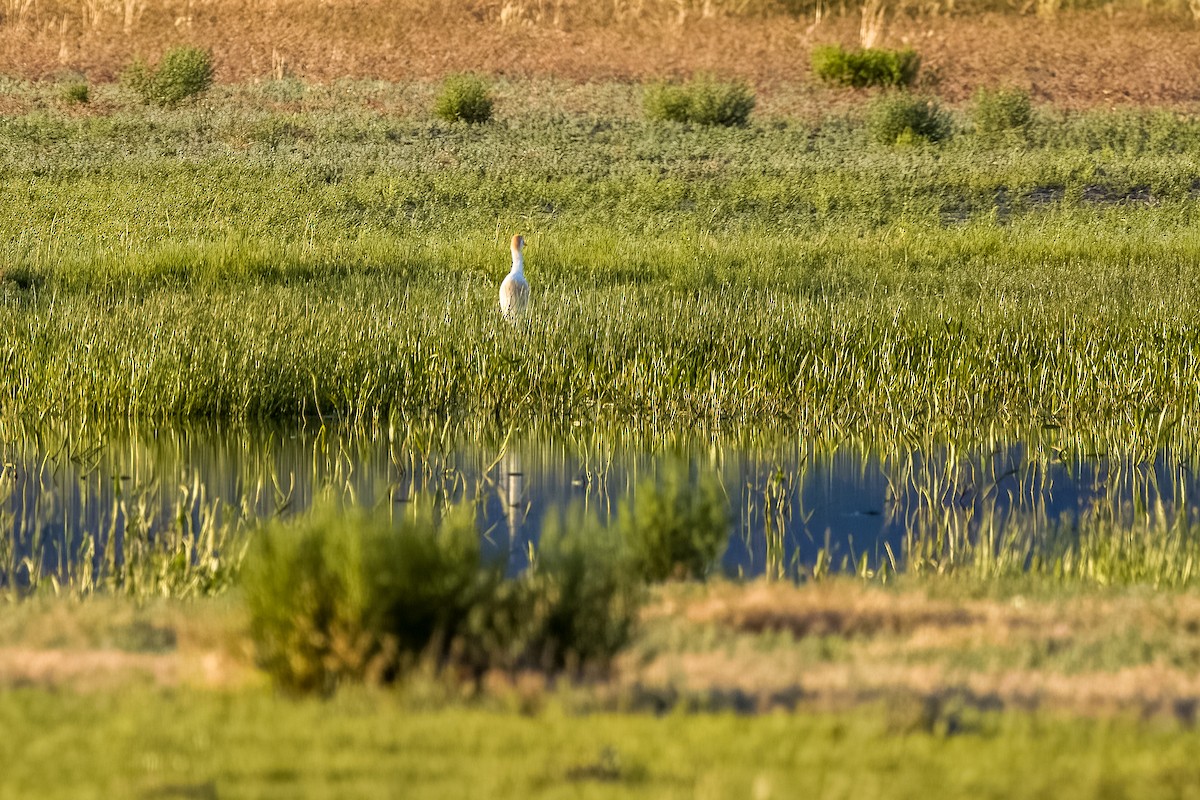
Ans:
[{"label": "small round blurred green shrub against the water, right of larger clump", "polygon": [[635,500],[622,505],[619,525],[632,566],[647,581],[703,577],[730,535],[720,485],[691,481],[685,470],[638,486]]}]

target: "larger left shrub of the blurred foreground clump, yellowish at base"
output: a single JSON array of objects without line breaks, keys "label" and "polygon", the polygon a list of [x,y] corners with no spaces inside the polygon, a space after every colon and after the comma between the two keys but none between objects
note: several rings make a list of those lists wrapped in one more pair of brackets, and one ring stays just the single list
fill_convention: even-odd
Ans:
[{"label": "larger left shrub of the blurred foreground clump, yellowish at base", "polygon": [[469,509],[394,527],[332,506],[260,531],[242,577],[259,663],[295,692],[440,657],[497,579],[480,569]]}]

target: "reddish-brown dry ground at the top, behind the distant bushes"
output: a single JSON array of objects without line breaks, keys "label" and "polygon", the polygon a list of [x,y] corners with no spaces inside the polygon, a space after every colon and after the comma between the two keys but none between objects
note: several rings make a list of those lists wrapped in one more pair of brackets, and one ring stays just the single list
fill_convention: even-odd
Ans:
[{"label": "reddish-brown dry ground at the top, behind the distant bushes", "polygon": [[[175,6],[146,7],[128,25],[116,14],[80,17],[78,6],[59,12],[54,0],[32,6],[36,13],[0,22],[0,74],[49,79],[74,72],[112,80],[134,55],[152,61],[167,47],[191,43],[212,50],[221,82],[286,74],[406,82],[455,71],[640,82],[712,71],[745,78],[769,96],[784,86],[812,85],[814,46],[859,43],[857,13],[820,23],[781,14],[596,22],[526,13],[511,2],[504,7],[517,12],[438,0]],[[916,48],[925,89],[949,102],[980,85],[1008,84],[1064,108],[1200,106],[1200,35],[1195,23],[1178,16],[1135,10],[1061,12],[1049,19],[893,14],[878,46]],[[812,91],[814,102],[828,98]]]}]

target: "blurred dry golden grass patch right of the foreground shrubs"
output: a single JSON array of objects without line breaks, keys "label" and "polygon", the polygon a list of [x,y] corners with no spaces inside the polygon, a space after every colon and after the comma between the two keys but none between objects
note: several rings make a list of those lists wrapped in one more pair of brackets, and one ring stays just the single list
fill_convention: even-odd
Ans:
[{"label": "blurred dry golden grass patch right of the foreground shrubs", "polygon": [[715,694],[758,710],[953,697],[1190,723],[1198,654],[1200,599],[1187,595],[965,599],[758,583],[665,595],[618,680],[626,694]]}]

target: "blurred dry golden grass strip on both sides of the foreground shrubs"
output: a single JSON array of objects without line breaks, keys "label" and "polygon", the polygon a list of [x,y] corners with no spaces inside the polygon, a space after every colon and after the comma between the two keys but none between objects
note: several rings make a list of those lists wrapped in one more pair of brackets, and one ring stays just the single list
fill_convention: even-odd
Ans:
[{"label": "blurred dry golden grass strip on both sides of the foreground shrubs", "polygon": [[[265,680],[252,654],[236,604],[197,614],[179,602],[139,608],[47,597],[6,608],[0,688],[236,690]],[[901,716],[955,703],[1192,723],[1200,710],[1198,658],[1200,597],[1189,595],[972,599],[851,581],[680,584],[659,590],[613,675],[577,699],[740,710],[882,699]],[[482,691],[534,709],[547,687],[541,674],[490,674]]]}]

